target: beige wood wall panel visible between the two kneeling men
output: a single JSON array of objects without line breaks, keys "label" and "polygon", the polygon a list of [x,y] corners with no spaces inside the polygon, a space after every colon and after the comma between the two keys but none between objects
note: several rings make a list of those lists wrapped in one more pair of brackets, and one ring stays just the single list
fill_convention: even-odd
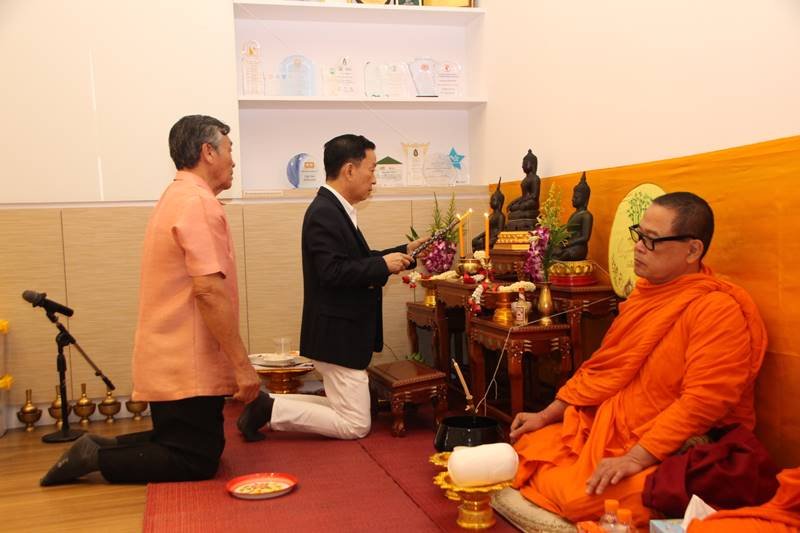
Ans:
[{"label": "beige wood wall panel visible between the two kneeling men", "polygon": [[303,268],[300,230],[306,203],[245,205],[247,319],[251,353],[275,351],[276,337],[300,343]]}]

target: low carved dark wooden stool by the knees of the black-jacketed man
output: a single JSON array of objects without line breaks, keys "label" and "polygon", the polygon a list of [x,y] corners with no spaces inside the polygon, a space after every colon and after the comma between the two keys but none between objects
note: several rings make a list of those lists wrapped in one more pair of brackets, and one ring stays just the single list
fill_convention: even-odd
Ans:
[{"label": "low carved dark wooden stool by the knees of the black-jacketed man", "polygon": [[[444,372],[439,372],[416,361],[395,361],[367,368],[373,406],[378,400],[388,400],[392,405],[392,435],[406,433],[405,406],[430,401],[436,414],[436,425],[447,411],[447,383]],[[376,409],[373,407],[373,412]]]}]

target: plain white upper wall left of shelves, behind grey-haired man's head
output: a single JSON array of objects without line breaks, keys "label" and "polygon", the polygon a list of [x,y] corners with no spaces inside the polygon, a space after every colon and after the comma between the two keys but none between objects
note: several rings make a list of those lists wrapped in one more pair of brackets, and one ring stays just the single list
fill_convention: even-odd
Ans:
[{"label": "plain white upper wall left of shelves, behind grey-haired man's head", "polygon": [[230,0],[0,1],[0,203],[157,199],[181,116],[238,147],[235,61]]}]

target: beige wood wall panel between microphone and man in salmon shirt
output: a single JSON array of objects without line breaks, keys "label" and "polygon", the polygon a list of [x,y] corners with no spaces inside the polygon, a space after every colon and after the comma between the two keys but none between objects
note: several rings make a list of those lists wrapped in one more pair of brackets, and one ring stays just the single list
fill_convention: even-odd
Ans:
[{"label": "beige wood wall panel between microphone and man in salmon shirt", "polygon": [[[70,331],[117,387],[114,395],[129,396],[142,243],[152,208],[62,212],[67,295],[75,309]],[[70,353],[70,400],[79,397],[81,383],[90,398],[102,398],[105,384],[77,350]]]}]

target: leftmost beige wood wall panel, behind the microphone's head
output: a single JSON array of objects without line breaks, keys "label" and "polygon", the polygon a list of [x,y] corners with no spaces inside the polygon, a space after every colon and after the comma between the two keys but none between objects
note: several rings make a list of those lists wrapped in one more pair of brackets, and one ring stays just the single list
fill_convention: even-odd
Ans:
[{"label": "leftmost beige wood wall panel, behind the microphone's head", "polygon": [[16,409],[25,401],[25,389],[33,389],[34,401],[52,401],[58,383],[57,330],[42,309],[32,309],[22,299],[22,291],[46,292],[60,303],[71,302],[64,282],[61,211],[0,210],[0,228],[0,318],[9,321],[6,369],[16,380],[9,396]]}]

